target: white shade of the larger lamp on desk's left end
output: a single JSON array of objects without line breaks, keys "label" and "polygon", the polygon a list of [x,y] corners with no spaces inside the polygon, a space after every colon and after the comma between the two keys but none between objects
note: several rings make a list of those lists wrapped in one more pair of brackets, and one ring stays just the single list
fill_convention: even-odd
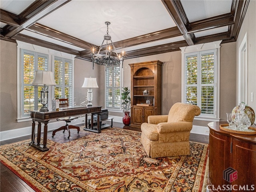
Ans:
[{"label": "white shade of the larger lamp on desk's left end", "polygon": [[32,85],[56,85],[52,71],[36,71]]}]

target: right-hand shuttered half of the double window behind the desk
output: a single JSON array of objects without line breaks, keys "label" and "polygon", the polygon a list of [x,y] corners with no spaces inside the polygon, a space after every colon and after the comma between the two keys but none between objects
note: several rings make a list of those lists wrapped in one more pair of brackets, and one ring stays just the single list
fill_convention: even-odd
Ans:
[{"label": "right-hand shuttered half of the double window behind the desk", "polygon": [[60,57],[54,57],[54,98],[67,98],[69,106],[72,106],[72,61]]}]

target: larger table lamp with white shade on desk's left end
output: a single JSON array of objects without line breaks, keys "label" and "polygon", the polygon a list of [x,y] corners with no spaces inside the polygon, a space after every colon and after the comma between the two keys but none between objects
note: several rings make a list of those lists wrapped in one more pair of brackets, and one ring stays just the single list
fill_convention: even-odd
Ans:
[{"label": "larger table lamp with white shade on desk's left end", "polygon": [[54,73],[52,71],[36,71],[32,85],[43,86],[40,92],[40,99],[43,105],[40,109],[40,112],[49,111],[46,107],[46,104],[48,103],[48,90],[46,86],[56,85],[56,82],[54,80]]}]

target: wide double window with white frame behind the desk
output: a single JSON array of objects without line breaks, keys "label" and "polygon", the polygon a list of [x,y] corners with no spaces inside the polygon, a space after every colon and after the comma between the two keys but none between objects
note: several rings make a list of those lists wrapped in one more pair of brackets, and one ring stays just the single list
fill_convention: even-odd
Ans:
[{"label": "wide double window with white frame behind the desk", "polygon": [[[68,98],[72,105],[73,94],[73,61],[74,55],[60,53],[45,47],[40,47],[17,41],[18,44],[18,87],[17,87],[17,121],[30,120],[30,110],[38,110],[42,107],[40,91],[42,86],[32,86],[35,71],[54,71],[57,86],[48,87],[48,104],[51,108],[53,98]],[[56,55],[54,56],[53,55]],[[59,57],[60,56],[60,57]],[[64,59],[70,58],[70,59]]]}]

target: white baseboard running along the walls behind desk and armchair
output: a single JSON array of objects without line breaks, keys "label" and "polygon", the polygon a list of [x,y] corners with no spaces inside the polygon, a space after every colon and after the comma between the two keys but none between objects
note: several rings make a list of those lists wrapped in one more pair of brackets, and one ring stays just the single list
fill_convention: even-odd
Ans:
[{"label": "white baseboard running along the walls behind desk and armchair", "polygon": [[[122,117],[120,117],[120,116],[109,116],[109,117],[114,118],[113,119],[114,122],[118,122],[118,123],[123,122]],[[70,125],[78,125],[78,124],[84,123],[84,119],[85,119],[84,117],[75,119],[75,120],[71,121]],[[58,127],[61,127],[63,125],[65,125],[64,121],[54,121],[52,123],[48,123],[48,131],[52,131],[52,130],[57,129]],[[43,130],[43,126],[44,125],[42,125],[42,130]],[[29,126],[29,127],[22,127],[19,129],[12,129],[12,130],[8,130],[8,131],[0,131],[0,141],[14,139],[14,138],[22,137],[22,136],[26,136],[26,135],[31,135],[31,131],[32,131],[32,121],[31,121],[31,126]],[[37,128],[35,131],[37,133]],[[191,133],[196,133],[196,134],[201,134],[201,135],[209,135],[209,128],[204,127],[204,126],[193,125]]]}]

